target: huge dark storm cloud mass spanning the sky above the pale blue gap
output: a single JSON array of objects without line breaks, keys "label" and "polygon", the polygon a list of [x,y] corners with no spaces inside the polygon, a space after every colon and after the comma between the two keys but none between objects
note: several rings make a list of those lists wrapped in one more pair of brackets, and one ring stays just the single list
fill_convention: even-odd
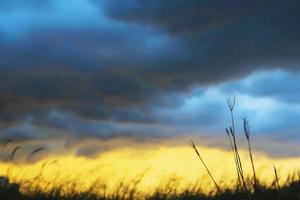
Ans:
[{"label": "huge dark storm cloud mass spanning the sky above the pale blue gap", "polygon": [[[177,107],[179,94],[192,88],[260,68],[298,68],[297,1],[54,2],[31,18],[20,12],[15,17],[28,19],[22,26],[3,20],[2,121],[59,108],[156,123],[164,120],[153,107]],[[71,17],[56,13],[66,8]]]}]

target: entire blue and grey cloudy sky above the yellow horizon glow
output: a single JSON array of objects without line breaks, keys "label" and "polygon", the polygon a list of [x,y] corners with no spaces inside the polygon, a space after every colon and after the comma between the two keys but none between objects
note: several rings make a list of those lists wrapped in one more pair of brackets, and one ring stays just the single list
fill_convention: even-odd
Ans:
[{"label": "entire blue and grey cloudy sky above the yellow horizon glow", "polygon": [[261,149],[300,155],[299,6],[1,0],[1,139],[220,143],[235,96],[241,132],[247,116]]}]

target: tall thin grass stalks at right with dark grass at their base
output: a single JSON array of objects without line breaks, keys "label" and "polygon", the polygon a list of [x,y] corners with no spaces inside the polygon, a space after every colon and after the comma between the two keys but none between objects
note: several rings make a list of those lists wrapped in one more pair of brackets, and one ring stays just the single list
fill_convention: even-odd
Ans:
[{"label": "tall thin grass stalks at right with dark grass at their base", "polygon": [[[228,135],[230,147],[231,147],[232,154],[234,157],[234,162],[235,162],[236,171],[237,171],[237,183],[238,184],[236,186],[235,191],[234,192],[231,191],[229,193],[227,192],[227,195],[231,195],[231,196],[233,195],[232,197],[230,197],[231,199],[247,199],[248,198],[249,200],[252,200],[252,199],[278,199],[278,200],[280,200],[280,199],[300,199],[300,195],[298,193],[295,194],[295,191],[294,191],[294,187],[298,187],[297,188],[298,190],[300,189],[299,188],[299,180],[293,181],[292,183],[287,184],[288,186],[286,186],[284,189],[280,188],[277,169],[275,166],[273,166],[273,168],[274,168],[274,174],[275,174],[274,184],[276,185],[276,187],[265,188],[262,185],[259,185],[259,181],[257,180],[257,177],[256,177],[256,170],[255,170],[253,153],[252,153],[252,148],[251,148],[249,120],[246,117],[242,118],[243,129],[244,129],[245,138],[246,138],[247,144],[248,144],[248,153],[249,153],[249,158],[250,158],[250,162],[251,162],[253,177],[249,178],[249,177],[244,176],[243,164],[242,164],[242,161],[241,161],[241,158],[239,155],[238,145],[236,142],[236,129],[235,129],[235,121],[234,121],[235,102],[236,102],[235,97],[227,99],[227,105],[228,105],[228,108],[230,111],[231,125],[229,126],[229,128],[226,128],[226,133]],[[212,173],[208,169],[207,165],[205,164],[197,147],[195,146],[195,144],[193,142],[192,142],[192,147],[195,150],[196,155],[200,159],[201,163],[205,167],[212,182],[216,186],[216,190],[218,191],[219,196],[216,195],[215,198],[218,199],[218,197],[219,197],[220,199],[226,199],[225,193],[221,191],[220,187],[216,183]],[[289,191],[289,190],[291,190],[291,191]],[[281,195],[284,193],[283,191],[289,191],[289,194],[291,196]],[[240,196],[240,195],[243,195],[243,196]],[[292,195],[296,195],[296,196],[293,197]]]}]

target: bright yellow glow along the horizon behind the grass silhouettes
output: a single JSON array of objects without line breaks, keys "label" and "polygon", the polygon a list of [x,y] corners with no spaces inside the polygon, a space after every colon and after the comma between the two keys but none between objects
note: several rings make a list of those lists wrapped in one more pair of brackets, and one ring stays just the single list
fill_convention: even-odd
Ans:
[{"label": "bright yellow glow along the horizon behind the grass silhouettes", "polygon": [[[232,187],[236,183],[231,151],[199,146],[199,152],[221,187]],[[241,151],[240,154],[244,170],[251,176],[248,153]],[[274,181],[273,164],[278,168],[281,184],[289,174],[300,169],[300,158],[275,159],[255,152],[254,161],[260,181],[268,185]],[[123,147],[104,152],[96,158],[70,154],[52,156],[34,164],[1,163],[0,173],[8,173],[13,181],[21,182],[21,187],[22,183],[31,181],[44,190],[53,185],[64,188],[75,182],[72,187],[76,191],[105,184],[105,189],[113,193],[121,182],[130,185],[138,177],[141,180],[136,188],[143,194],[163,188],[172,178],[178,181],[174,182],[178,191],[195,184],[205,193],[214,190],[212,181],[189,146]],[[51,182],[50,185],[47,182]]]}]

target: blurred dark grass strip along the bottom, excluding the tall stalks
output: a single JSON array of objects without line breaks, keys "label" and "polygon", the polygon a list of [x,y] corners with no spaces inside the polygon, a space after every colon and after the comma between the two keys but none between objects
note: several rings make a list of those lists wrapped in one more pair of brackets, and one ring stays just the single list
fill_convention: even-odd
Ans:
[{"label": "blurred dark grass strip along the bottom, excluding the tall stalks", "polygon": [[[164,187],[157,188],[152,194],[142,194],[137,188],[136,184],[138,182],[133,182],[130,184],[120,183],[119,187],[113,192],[106,191],[104,183],[95,183],[94,186],[86,191],[76,191],[72,188],[76,188],[76,183],[66,182],[65,188],[69,188],[68,191],[62,188],[62,185],[57,187],[52,187],[49,191],[45,192],[40,190],[32,182],[23,182],[22,184],[27,184],[28,191],[22,193],[19,191],[19,185],[17,183],[5,183],[1,178],[0,187],[0,199],[3,200],[119,200],[119,199],[198,199],[198,200],[244,200],[248,199],[249,195],[247,192],[243,191],[238,187],[231,189],[223,189],[223,193],[220,195],[216,191],[211,191],[210,193],[204,193],[197,185],[187,186],[183,190],[178,190],[177,184],[179,183],[176,179],[170,179],[168,184]],[[201,183],[199,183],[201,184]],[[300,198],[300,181],[299,175],[294,174],[289,177],[289,180],[280,187],[278,190],[276,186],[276,181],[273,184],[266,187],[259,185],[257,191],[251,193],[251,199],[281,199],[281,200],[298,200]]]}]

